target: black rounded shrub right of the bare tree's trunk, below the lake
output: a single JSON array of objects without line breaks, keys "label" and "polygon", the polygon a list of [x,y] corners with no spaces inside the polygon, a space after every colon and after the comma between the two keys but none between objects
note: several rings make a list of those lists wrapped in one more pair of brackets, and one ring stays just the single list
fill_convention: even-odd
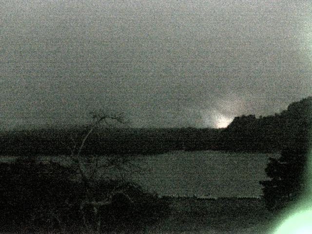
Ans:
[{"label": "black rounded shrub right of the bare tree's trunk, below the lake", "polygon": [[[97,199],[101,200],[108,190],[111,191],[120,181],[101,181],[97,187]],[[101,206],[102,232],[137,233],[148,225],[161,220],[169,214],[169,203],[156,194],[144,191],[138,184],[128,182],[123,185],[123,192],[113,195],[111,203]],[[93,207],[86,207],[89,222],[93,220]]]}]

